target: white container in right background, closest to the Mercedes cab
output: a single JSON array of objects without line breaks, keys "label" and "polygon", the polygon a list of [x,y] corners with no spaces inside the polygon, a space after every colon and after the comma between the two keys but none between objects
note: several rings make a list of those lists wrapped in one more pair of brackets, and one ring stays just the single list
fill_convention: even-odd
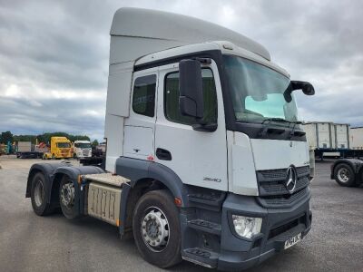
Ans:
[{"label": "white container in right background, closest to the Mercedes cab", "polygon": [[310,150],[335,149],[336,136],[334,124],[328,121],[312,121],[302,125]]}]

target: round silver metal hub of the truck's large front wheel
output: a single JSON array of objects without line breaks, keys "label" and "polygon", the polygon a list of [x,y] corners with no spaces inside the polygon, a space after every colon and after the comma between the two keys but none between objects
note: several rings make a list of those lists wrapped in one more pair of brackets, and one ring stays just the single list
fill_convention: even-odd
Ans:
[{"label": "round silver metal hub of the truck's large front wheel", "polygon": [[169,241],[169,224],[161,209],[152,208],[142,219],[142,239],[152,251],[160,252]]}]

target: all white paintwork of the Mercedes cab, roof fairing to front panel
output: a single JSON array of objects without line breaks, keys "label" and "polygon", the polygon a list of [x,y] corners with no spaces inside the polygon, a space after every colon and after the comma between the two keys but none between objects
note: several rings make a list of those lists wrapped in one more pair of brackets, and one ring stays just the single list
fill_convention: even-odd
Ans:
[{"label": "all white paintwork of the Mercedes cab, roof fairing to front panel", "polygon": [[[106,170],[114,171],[115,160],[120,156],[141,160],[152,156],[185,184],[256,196],[255,170],[309,164],[306,142],[250,140],[243,133],[226,131],[220,77],[213,61],[218,100],[218,129],[214,132],[194,131],[190,125],[165,118],[164,76],[177,71],[178,63],[133,73],[134,64],[207,50],[238,55],[289,77],[289,73],[270,62],[270,53],[260,44],[220,26],[162,12],[131,8],[117,11],[111,30]],[[132,83],[138,76],[148,74],[156,74],[158,79],[155,117],[137,114],[131,107]],[[172,160],[159,160],[155,156],[157,148],[171,151]]]}]

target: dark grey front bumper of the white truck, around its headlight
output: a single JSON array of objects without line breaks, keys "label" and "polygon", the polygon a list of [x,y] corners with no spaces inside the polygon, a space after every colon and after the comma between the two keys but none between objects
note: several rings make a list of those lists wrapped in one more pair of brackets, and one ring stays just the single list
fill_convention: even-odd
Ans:
[{"label": "dark grey front bumper of the white truck, around its headlight", "polygon": [[[310,193],[289,208],[263,208],[256,198],[229,194],[223,203],[221,250],[218,268],[246,269],[283,250],[285,241],[301,233],[304,238],[311,228]],[[231,223],[231,215],[262,218],[261,233],[250,239],[240,238]]]}]

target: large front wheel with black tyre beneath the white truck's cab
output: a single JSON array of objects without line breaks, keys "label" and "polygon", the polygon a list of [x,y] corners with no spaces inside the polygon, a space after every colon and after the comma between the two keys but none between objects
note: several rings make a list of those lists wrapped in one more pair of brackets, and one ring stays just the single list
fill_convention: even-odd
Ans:
[{"label": "large front wheel with black tyre beneath the white truck's cab", "polygon": [[139,199],[133,209],[132,231],[147,262],[166,268],[182,261],[179,211],[167,190],[153,190]]}]

